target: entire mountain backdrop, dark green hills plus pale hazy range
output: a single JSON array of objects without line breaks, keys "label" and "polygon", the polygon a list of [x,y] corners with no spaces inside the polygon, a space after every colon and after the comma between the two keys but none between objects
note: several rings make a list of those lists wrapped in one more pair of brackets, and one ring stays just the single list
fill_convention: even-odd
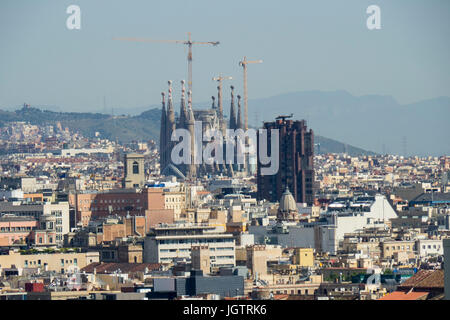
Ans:
[{"label": "entire mountain backdrop, dark green hills plus pale hazy range", "polygon": [[[195,108],[210,107],[210,102]],[[224,101],[224,113],[230,101]],[[59,110],[57,106],[45,109]],[[120,119],[101,113],[37,111],[33,108],[1,111],[5,121],[61,121],[87,136],[99,131],[104,137],[120,141],[159,138],[160,105],[114,108]],[[178,110],[176,104],[175,110]],[[261,127],[278,115],[293,114],[306,119],[314,130],[321,152],[350,154],[376,153],[440,156],[450,153],[450,97],[439,97],[401,105],[391,96],[356,97],[346,91],[302,91],[264,99],[249,100],[249,126]],[[38,120],[39,119],[39,120]],[[325,138],[328,137],[328,138]],[[341,143],[339,141],[345,141]],[[348,145],[347,145],[348,144]],[[356,148],[354,146],[358,146]]]}]

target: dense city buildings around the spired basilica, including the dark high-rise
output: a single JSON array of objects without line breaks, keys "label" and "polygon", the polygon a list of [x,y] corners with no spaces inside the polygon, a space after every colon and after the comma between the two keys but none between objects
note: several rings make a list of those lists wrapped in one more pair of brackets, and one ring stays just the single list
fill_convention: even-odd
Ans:
[{"label": "dense city buildings around the spired basilica, including the dark high-rise", "polygon": [[448,156],[315,154],[305,121],[264,125],[281,129],[273,199],[258,171],[185,179],[155,142],[32,128],[54,152],[0,156],[0,297],[443,298]]}]

